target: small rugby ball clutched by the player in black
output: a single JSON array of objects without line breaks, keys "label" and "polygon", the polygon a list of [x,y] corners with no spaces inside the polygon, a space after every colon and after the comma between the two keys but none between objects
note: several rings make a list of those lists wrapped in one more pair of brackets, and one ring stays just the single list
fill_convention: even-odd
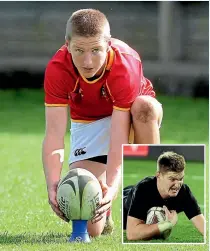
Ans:
[{"label": "small rugby ball clutched by the player in black", "polygon": [[[156,224],[166,220],[165,210],[162,207],[152,207],[147,212],[146,224]],[[171,234],[171,229],[166,230],[159,237],[162,239],[167,239]]]}]

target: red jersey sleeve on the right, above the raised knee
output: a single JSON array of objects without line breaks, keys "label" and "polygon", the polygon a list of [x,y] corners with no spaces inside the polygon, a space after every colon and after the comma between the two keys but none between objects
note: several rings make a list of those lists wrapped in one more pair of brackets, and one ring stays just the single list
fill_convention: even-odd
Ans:
[{"label": "red jersey sleeve on the right, above the raised knee", "polygon": [[130,55],[124,55],[117,60],[120,63],[116,63],[107,80],[107,89],[112,97],[114,109],[130,110],[139,95],[155,97],[152,83],[143,76],[140,60]]}]

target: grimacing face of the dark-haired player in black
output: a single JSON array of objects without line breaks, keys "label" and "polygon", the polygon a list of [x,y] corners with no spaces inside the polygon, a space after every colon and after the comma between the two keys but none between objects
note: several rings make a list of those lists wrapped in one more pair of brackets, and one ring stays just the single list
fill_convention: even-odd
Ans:
[{"label": "grimacing face of the dark-haired player in black", "polygon": [[181,173],[167,172],[159,173],[157,175],[159,179],[159,188],[163,197],[175,197],[179,193],[184,181],[184,171]]}]

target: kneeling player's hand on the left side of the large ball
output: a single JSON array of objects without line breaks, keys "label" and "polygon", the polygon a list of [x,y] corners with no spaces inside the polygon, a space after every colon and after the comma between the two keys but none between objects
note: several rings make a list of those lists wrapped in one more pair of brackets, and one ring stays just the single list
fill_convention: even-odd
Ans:
[{"label": "kneeling player's hand on the left side of the large ball", "polygon": [[47,189],[48,190],[48,202],[52,210],[57,214],[58,217],[60,217],[62,220],[66,222],[69,222],[69,220],[65,218],[64,214],[59,209],[58,202],[56,200],[57,187],[58,187],[58,182],[48,186],[48,189]]}]

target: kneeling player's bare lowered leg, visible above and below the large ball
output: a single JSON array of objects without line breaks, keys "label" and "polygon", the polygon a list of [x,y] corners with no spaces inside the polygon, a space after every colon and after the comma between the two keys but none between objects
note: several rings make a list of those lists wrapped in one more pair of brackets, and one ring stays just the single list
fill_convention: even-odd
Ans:
[{"label": "kneeling player's bare lowered leg, visible above and below the large ball", "polygon": [[[70,165],[70,169],[73,168],[84,168],[88,171],[90,171],[92,174],[96,176],[98,180],[103,181],[106,183],[106,165],[99,163],[99,162],[94,162],[94,161],[89,161],[89,160],[81,160],[74,162]],[[95,237],[99,236],[105,225],[106,217],[104,216],[99,222],[92,224],[91,221],[88,221],[88,233],[90,236]]]}]

